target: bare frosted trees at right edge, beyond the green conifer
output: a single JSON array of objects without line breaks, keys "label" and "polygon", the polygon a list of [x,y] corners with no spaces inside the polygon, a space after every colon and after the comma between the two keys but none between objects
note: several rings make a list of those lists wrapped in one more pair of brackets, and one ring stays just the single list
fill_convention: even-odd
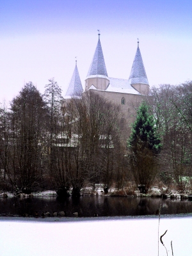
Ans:
[{"label": "bare frosted trees at right edge, beyond the green conifer", "polygon": [[[163,141],[160,177],[183,191],[191,169],[190,84],[152,88],[157,127]],[[174,177],[174,179],[173,179]]]}]

